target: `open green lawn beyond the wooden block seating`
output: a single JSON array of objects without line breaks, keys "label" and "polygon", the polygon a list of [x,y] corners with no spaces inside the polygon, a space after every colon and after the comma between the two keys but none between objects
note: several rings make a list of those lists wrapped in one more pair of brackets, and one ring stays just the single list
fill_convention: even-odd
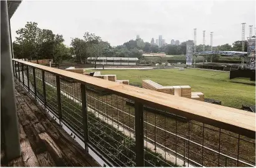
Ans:
[{"label": "open green lawn beyond the wooden block seating", "polygon": [[[93,71],[93,70],[92,70]],[[192,91],[201,91],[206,98],[222,101],[222,105],[241,108],[242,104],[255,105],[255,86],[243,83],[249,78],[229,80],[227,72],[178,69],[168,70],[100,70],[102,74],[115,74],[117,79],[128,79],[130,83],[140,85],[144,79],[150,79],[161,85],[189,85]],[[235,83],[242,82],[242,83]]]}]

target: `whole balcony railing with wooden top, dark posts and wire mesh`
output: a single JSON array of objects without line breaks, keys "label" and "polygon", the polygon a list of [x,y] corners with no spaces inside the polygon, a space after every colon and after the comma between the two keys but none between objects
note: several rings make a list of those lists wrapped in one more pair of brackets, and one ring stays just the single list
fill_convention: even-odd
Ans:
[{"label": "whole balcony railing with wooden top, dark posts and wire mesh", "polygon": [[111,166],[255,166],[255,113],[12,61],[21,85]]}]

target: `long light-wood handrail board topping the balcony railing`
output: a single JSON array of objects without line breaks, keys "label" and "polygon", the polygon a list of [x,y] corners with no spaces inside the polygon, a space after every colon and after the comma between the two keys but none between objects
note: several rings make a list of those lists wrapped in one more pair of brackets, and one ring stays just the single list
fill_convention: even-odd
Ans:
[{"label": "long light-wood handrail board topping the balcony railing", "polygon": [[255,113],[102,80],[100,78],[46,67],[44,65],[38,65],[36,63],[18,59],[12,60],[61,77],[72,78],[78,83],[98,86],[115,95],[123,96],[124,98],[138,101],[144,105],[165,110],[167,113],[178,114],[179,116],[194,119],[205,124],[210,124],[255,139]]}]

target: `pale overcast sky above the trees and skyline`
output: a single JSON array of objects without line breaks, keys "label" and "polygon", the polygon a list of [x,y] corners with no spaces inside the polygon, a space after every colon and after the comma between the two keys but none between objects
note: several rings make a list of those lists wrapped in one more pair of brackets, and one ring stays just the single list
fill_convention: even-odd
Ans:
[{"label": "pale overcast sky above the trees and skyline", "polygon": [[66,45],[86,31],[114,46],[137,34],[145,42],[163,35],[169,44],[171,39],[193,40],[197,28],[197,44],[206,30],[206,44],[214,32],[215,46],[240,40],[242,22],[249,36],[249,25],[255,27],[255,1],[22,1],[11,18],[12,40],[27,21],[62,34]]}]

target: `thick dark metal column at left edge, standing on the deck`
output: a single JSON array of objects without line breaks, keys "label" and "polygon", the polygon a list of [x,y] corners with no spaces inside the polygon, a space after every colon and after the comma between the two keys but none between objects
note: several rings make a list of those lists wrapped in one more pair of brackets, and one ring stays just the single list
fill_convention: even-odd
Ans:
[{"label": "thick dark metal column at left edge, standing on the deck", "polygon": [[7,1],[1,3],[1,140],[8,161],[21,156],[16,111],[14,76],[12,75],[11,32]]}]

